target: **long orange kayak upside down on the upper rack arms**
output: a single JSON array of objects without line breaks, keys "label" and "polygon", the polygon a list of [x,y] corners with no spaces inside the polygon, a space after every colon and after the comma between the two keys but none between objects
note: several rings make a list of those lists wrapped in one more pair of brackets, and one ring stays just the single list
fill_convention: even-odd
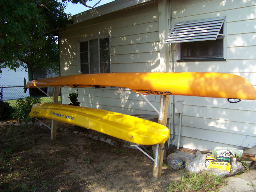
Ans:
[{"label": "long orange kayak upside down on the upper rack arms", "polygon": [[245,78],[213,72],[131,72],[79,74],[27,82],[37,87],[125,87],[137,93],[186,95],[255,100],[256,92]]}]

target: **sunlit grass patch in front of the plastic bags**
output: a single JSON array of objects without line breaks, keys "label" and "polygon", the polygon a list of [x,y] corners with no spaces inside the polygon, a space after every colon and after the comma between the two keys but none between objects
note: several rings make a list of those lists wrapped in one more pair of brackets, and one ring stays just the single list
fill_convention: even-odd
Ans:
[{"label": "sunlit grass patch in front of the plastic bags", "polygon": [[213,174],[186,172],[181,180],[174,181],[165,189],[166,192],[216,192],[218,187],[227,185],[227,180]]}]

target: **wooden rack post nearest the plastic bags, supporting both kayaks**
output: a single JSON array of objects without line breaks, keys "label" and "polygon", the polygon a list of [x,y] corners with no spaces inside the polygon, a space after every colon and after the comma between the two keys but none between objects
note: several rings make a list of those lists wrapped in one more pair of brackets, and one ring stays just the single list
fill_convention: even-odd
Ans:
[{"label": "wooden rack post nearest the plastic bags, supporting both kayaks", "polygon": [[[158,123],[166,126],[167,116],[168,116],[168,106],[169,106],[169,95],[163,95],[161,97],[164,97],[163,98],[164,100],[163,100],[162,118],[161,118],[161,120],[159,120],[160,118],[158,118]],[[160,103],[160,106],[161,106],[161,103]],[[160,109],[159,109],[159,111],[160,111]],[[153,172],[153,175],[156,178],[161,177],[161,174],[162,174],[163,157],[164,157],[164,150],[161,150],[162,148],[164,148],[164,143],[159,144],[157,164],[156,164],[156,167],[154,166],[154,172]]]}]

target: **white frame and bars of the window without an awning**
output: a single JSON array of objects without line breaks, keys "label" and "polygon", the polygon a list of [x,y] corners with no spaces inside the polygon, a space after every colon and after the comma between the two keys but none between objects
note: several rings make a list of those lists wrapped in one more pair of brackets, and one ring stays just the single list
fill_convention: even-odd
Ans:
[{"label": "white frame and bars of the window without an awning", "polygon": [[[111,38],[110,38],[110,34],[108,35],[102,35],[102,36],[95,36],[95,37],[90,37],[90,38],[83,38],[83,39],[78,39],[77,40],[77,74],[81,74],[81,58],[80,58],[80,43],[84,42],[84,41],[90,41],[90,40],[94,40],[94,39],[98,39],[98,47],[100,48],[100,39],[104,39],[104,38],[109,38],[109,68],[110,68],[110,73],[112,73],[112,68],[111,68]],[[89,49],[89,46],[88,46]],[[100,49],[98,49],[98,60],[100,63]],[[88,58],[90,59],[90,52],[88,52]],[[88,61],[88,67],[89,67],[89,74],[90,74],[90,62]],[[99,73],[100,73],[100,65],[99,65]]]}]

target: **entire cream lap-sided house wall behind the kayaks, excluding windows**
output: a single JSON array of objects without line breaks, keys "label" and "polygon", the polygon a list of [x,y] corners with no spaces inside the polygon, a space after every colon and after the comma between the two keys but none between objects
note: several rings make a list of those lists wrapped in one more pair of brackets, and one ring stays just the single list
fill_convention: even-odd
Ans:
[{"label": "entire cream lap-sided house wall behind the kayaks, excluding windows", "polygon": [[[170,9],[169,4],[165,6],[161,2],[165,0],[129,7],[60,30],[61,76],[77,74],[78,39],[106,34],[111,36],[112,72],[172,71],[170,45],[169,55],[166,55],[168,60],[164,64],[162,61],[165,54],[162,39],[166,36],[166,31],[161,27],[164,24],[161,17],[163,17],[163,7],[168,9],[168,12]],[[256,87],[255,2],[238,0],[171,0],[171,2],[173,24],[180,21],[227,16],[227,61],[177,62],[176,44],[173,44],[173,70],[232,73],[245,77]],[[166,21],[171,29],[170,14]],[[117,88],[62,88],[62,102],[69,104],[68,93],[78,92],[81,106],[128,115],[136,113],[156,115],[156,112],[138,94],[128,89],[123,93],[116,93],[116,90]],[[148,95],[147,98],[156,108],[159,107],[159,96]],[[250,148],[256,144],[255,100],[242,100],[231,104],[225,99],[175,96],[174,102],[176,101],[183,101],[181,147],[209,150],[216,147]],[[169,114],[172,111],[172,102],[171,97]],[[170,117],[168,122],[172,124],[174,116],[169,115],[168,118]],[[178,128],[179,118],[178,114],[175,114],[176,136],[172,143],[177,138]],[[172,125],[170,132],[172,133]]]}]

